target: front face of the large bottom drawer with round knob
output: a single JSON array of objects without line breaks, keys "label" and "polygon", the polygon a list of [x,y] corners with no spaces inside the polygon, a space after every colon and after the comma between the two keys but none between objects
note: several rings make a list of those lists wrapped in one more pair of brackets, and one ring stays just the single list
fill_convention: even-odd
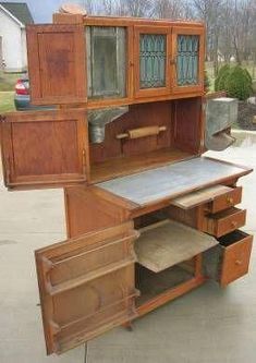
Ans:
[{"label": "front face of the large bottom drawer with round knob", "polygon": [[223,255],[219,282],[222,287],[246,275],[248,271],[253,235],[248,235],[242,231],[235,231],[234,233],[241,234],[240,241],[227,247],[221,245]]}]

